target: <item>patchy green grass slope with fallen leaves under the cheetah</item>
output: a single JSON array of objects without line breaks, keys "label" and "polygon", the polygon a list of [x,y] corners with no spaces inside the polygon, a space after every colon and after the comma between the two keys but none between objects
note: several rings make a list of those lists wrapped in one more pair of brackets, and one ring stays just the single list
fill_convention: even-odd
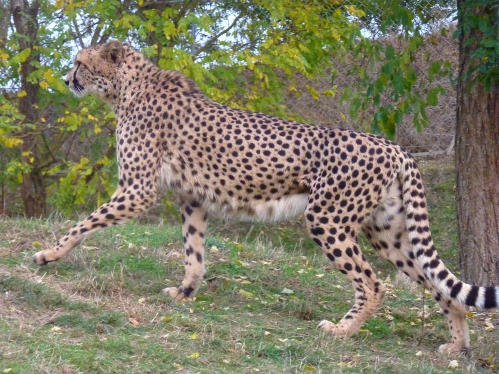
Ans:
[{"label": "patchy green grass slope with fallen leaves under the cheetah", "polygon": [[[457,268],[451,161],[423,162],[432,231]],[[493,373],[492,313],[470,313],[472,347],[437,352],[449,332],[422,290],[364,245],[388,292],[350,339],[316,328],[349,309],[351,285],[303,225],[225,223],[207,236],[208,273],[194,301],[160,291],[183,276],[179,225],[128,222],[100,231],[56,263],[31,256],[73,221],[0,219],[0,373]],[[494,320],[488,320],[494,322]],[[451,360],[458,367],[448,368]]]}]

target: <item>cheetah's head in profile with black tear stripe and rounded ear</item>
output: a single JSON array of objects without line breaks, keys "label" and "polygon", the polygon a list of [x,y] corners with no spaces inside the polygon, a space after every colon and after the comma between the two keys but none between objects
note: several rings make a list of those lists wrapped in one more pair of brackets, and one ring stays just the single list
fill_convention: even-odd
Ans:
[{"label": "cheetah's head in profile with black tear stripe and rounded ear", "polygon": [[90,93],[112,100],[116,95],[118,68],[123,56],[123,44],[117,40],[82,49],[74,58],[74,67],[67,74],[65,83],[78,97]]}]

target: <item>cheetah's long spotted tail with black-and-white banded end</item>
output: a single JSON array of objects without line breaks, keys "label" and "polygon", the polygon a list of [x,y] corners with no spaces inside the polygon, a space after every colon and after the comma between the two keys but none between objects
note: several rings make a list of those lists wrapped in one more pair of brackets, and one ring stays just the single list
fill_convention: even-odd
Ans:
[{"label": "cheetah's long spotted tail with black-and-white banded end", "polygon": [[423,269],[425,278],[446,298],[479,309],[499,306],[499,286],[474,286],[460,281],[443,261],[433,245],[430,233],[426,196],[421,175],[412,158],[408,158],[399,172],[402,199],[406,211],[406,227],[413,253]]}]

